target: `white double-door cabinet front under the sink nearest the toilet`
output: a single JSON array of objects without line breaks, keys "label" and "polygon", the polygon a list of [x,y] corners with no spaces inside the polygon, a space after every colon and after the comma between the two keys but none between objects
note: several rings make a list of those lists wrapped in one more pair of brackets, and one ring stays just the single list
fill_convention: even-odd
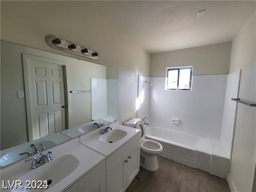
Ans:
[{"label": "white double-door cabinet front under the sink nearest the toilet", "polygon": [[140,135],[135,135],[106,159],[106,191],[124,192],[140,170]]}]

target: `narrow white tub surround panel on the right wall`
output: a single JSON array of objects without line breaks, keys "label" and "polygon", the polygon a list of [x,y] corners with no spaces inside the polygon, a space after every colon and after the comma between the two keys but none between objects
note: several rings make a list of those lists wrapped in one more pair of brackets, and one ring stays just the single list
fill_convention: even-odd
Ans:
[{"label": "narrow white tub surround panel on the right wall", "polygon": [[237,109],[237,102],[232,101],[231,98],[238,98],[240,76],[241,70],[228,74],[226,84],[221,141],[226,149],[228,158],[231,158]]}]

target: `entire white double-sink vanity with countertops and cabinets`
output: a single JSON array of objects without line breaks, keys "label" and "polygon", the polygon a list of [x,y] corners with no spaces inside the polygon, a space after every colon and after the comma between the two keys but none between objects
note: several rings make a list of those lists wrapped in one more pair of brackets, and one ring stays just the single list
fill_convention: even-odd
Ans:
[{"label": "entire white double-sink vanity with countertops and cabinets", "polygon": [[[8,181],[20,180],[25,187],[27,180],[51,180],[40,191],[125,191],[139,172],[140,130],[118,121],[111,128],[106,134],[97,129],[45,150],[42,154],[51,151],[53,159],[35,169],[31,169],[32,161],[24,160],[2,168],[2,189],[8,187]],[[40,154],[34,157],[39,159]],[[38,191],[33,187],[28,191]]]}]

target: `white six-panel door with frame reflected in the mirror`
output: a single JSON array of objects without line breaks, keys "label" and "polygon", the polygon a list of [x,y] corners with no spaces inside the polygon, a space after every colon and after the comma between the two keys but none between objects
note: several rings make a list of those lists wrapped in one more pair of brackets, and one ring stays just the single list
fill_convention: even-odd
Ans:
[{"label": "white six-panel door with frame reflected in the mirror", "polygon": [[23,54],[29,141],[65,130],[64,65]]}]

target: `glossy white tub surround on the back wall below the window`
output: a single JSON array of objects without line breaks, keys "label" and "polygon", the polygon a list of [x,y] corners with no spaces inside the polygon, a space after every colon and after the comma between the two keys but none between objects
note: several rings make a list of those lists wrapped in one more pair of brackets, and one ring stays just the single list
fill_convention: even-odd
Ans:
[{"label": "glossy white tub surround on the back wall below the window", "polygon": [[[151,77],[150,125],[220,139],[227,75],[192,78],[192,91],[165,90],[165,77]],[[172,124],[172,118],[180,124]]]}]

